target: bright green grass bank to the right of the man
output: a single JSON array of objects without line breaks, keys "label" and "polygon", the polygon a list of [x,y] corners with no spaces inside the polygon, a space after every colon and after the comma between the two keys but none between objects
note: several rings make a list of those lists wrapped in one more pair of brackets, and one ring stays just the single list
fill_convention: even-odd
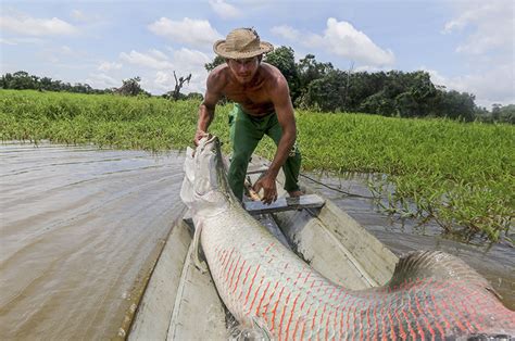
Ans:
[{"label": "bright green grass bank to the right of the man", "polygon": [[[298,115],[306,168],[373,174],[386,210],[449,232],[513,233],[515,127],[359,114]],[[511,240],[513,243],[513,240]]]}]

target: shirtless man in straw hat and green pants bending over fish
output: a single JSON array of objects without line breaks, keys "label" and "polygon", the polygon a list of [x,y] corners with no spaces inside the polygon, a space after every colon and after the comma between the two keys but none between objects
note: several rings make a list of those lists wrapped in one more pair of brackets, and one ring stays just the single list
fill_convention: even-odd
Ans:
[{"label": "shirtless man in straw hat and green pants bending over fish", "polygon": [[252,28],[237,28],[213,46],[214,52],[226,59],[208,76],[204,101],[200,104],[194,143],[206,135],[218,100],[225,96],[235,102],[229,115],[233,157],[228,172],[229,186],[237,198],[243,195],[249,160],[263,138],[268,135],[276,143],[274,160],[253,189],[263,189],[266,204],[277,199],[276,177],[280,167],[286,175],[285,189],[299,197],[298,178],[301,155],[296,147],[297,128],[288,83],[275,66],[262,63],[264,53],[274,49],[261,41]]}]

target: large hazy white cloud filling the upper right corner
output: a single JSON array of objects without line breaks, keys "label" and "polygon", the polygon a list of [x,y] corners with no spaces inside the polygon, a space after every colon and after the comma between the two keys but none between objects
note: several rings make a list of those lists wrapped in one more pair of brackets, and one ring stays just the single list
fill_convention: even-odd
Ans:
[{"label": "large hazy white cloud filling the upper right corner", "polygon": [[445,23],[442,33],[464,35],[455,51],[469,72],[451,78],[432,72],[431,79],[450,89],[474,93],[476,104],[481,106],[515,103],[515,4],[508,0],[453,4],[456,15]]}]

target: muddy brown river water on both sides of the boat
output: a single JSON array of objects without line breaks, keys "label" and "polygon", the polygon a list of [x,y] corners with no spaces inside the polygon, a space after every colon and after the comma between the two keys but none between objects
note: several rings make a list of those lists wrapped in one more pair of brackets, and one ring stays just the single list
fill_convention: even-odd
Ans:
[{"label": "muddy brown river water on both sides of the boat", "polygon": [[[147,276],[181,217],[180,152],[0,144],[2,340],[123,337]],[[515,308],[515,249],[441,238],[437,227],[392,220],[365,198],[311,182],[397,254],[439,249],[485,275]],[[322,182],[340,187],[338,179]],[[346,191],[366,197],[360,181]]]}]

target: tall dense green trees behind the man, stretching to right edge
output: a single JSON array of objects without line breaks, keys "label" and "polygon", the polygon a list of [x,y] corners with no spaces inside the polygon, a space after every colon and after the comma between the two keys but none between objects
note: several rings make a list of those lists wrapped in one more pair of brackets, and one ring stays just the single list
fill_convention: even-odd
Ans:
[{"label": "tall dense green trees behind the man, stretching to right edge", "polygon": [[[397,117],[448,117],[462,121],[515,123],[515,104],[494,104],[492,111],[475,104],[475,96],[447,91],[431,83],[427,72],[340,71],[307,54],[298,63],[294,51],[280,47],[266,54],[288,79],[296,108],[318,112],[361,112]],[[216,56],[208,71],[224,63]]]}]

